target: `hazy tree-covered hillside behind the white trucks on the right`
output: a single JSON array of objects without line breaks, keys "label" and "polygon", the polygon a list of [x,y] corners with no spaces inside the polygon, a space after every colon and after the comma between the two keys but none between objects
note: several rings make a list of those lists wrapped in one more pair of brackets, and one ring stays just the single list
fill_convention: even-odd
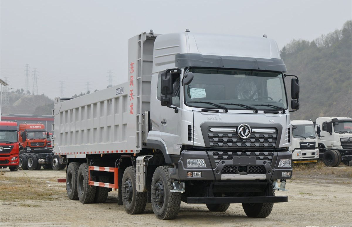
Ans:
[{"label": "hazy tree-covered hillside behind the white trucks on the right", "polygon": [[319,38],[293,40],[281,50],[288,74],[300,79],[300,110],[291,119],[352,115],[352,21]]}]

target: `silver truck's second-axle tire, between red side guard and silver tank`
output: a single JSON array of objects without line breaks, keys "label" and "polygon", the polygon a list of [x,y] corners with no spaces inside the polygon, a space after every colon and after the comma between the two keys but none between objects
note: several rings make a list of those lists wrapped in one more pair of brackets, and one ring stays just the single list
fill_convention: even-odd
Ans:
[{"label": "silver truck's second-axle tire, between red side guard and silver tank", "polygon": [[122,176],[122,203],[127,214],[141,214],[147,204],[147,193],[137,192],[136,169],[127,167]]}]

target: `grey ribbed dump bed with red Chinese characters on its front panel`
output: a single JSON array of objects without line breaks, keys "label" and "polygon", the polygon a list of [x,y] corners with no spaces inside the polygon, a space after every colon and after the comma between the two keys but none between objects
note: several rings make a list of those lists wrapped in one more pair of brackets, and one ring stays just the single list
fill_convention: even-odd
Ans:
[{"label": "grey ribbed dump bed with red Chinese characters on its front panel", "polygon": [[150,110],[156,34],[128,40],[127,82],[70,100],[55,99],[54,152],[67,157],[134,153],[142,148],[142,115]]}]

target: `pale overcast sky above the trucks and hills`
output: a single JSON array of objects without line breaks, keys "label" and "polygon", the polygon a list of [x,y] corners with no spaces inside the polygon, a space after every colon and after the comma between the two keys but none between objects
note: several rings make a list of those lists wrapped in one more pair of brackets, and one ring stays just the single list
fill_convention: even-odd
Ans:
[{"label": "pale overcast sky above the trucks and hills", "polygon": [[[351,0],[0,0],[0,78],[25,88],[25,64],[38,71],[39,94],[50,98],[101,90],[127,80],[128,38],[205,32],[269,38],[279,48],[313,40],[352,18]],[[30,76],[30,91],[33,80]]]}]

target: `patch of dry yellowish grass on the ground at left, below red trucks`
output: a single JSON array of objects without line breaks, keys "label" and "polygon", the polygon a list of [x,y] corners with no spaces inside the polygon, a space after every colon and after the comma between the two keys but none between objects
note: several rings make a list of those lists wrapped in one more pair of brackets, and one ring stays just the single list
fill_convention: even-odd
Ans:
[{"label": "patch of dry yellowish grass on the ground at left, below red trucks", "polygon": [[47,186],[47,180],[30,179],[27,176],[0,175],[0,200],[52,200],[65,196],[64,190]]}]

